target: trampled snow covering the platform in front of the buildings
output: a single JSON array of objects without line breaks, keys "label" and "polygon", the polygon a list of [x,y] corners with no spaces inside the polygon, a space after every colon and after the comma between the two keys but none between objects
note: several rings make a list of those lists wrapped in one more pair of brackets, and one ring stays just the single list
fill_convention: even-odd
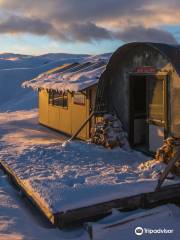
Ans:
[{"label": "trampled snow covering the platform in front of the buildings", "polygon": [[35,110],[0,114],[0,134],[0,159],[53,213],[153,191],[165,167],[136,151],[62,147],[65,136],[38,125]]}]

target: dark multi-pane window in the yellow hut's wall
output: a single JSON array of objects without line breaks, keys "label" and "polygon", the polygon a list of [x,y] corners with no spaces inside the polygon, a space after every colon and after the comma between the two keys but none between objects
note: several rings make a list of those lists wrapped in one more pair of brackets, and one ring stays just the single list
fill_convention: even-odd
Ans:
[{"label": "dark multi-pane window in the yellow hut's wall", "polygon": [[68,107],[68,95],[63,92],[52,91],[49,92],[49,104],[63,108]]}]

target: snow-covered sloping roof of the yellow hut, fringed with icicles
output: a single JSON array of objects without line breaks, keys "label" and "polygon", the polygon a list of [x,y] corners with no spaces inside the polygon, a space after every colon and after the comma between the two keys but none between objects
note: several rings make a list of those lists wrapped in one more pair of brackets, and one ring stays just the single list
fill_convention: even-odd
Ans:
[{"label": "snow-covered sloping roof of the yellow hut, fringed with icicles", "polygon": [[56,91],[82,91],[98,83],[105,71],[109,57],[91,57],[80,63],[65,64],[53,71],[40,74],[36,78],[25,81],[22,87],[37,89],[53,89]]}]

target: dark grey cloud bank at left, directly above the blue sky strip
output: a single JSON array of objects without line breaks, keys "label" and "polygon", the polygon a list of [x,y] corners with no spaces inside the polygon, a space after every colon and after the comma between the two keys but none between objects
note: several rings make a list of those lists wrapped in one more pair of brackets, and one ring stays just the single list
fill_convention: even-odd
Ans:
[{"label": "dark grey cloud bank at left, directly above the blue sky strip", "polygon": [[42,19],[20,16],[10,16],[5,21],[0,22],[0,33],[50,35],[56,39],[81,42],[111,38],[110,31],[91,22],[73,23],[63,27]]}]

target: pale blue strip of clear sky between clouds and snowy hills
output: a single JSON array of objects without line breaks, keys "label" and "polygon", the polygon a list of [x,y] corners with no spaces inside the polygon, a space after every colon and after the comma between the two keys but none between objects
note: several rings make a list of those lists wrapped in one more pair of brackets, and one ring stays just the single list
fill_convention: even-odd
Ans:
[{"label": "pale blue strip of clear sky between clouds and snowy hills", "polygon": [[90,53],[99,54],[112,52],[123,44],[120,40],[102,40],[92,43],[64,42],[54,40],[48,36],[35,36],[32,34],[11,35],[5,34],[0,37],[0,51],[21,54],[39,55],[48,52],[65,53]]}]

